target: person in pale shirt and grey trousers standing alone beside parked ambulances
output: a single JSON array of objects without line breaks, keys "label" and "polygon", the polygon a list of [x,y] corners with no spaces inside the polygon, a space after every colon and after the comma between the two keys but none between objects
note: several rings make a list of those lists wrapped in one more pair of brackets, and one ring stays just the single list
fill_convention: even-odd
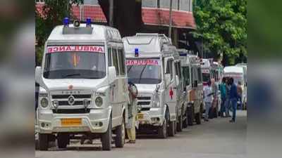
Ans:
[{"label": "person in pale shirt and grey trousers standing alone beside parked ambulances", "polygon": [[204,121],[209,121],[209,109],[212,107],[212,86],[211,81],[207,82],[207,85],[204,88],[204,105],[206,107],[206,116],[204,118]]}]

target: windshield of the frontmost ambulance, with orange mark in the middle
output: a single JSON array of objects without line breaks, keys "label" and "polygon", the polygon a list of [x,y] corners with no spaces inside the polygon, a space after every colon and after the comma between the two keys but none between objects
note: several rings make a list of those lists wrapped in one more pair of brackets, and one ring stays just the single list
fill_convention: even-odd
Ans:
[{"label": "windshield of the frontmost ambulance, with orange mark in the middle", "polygon": [[[72,49],[74,50],[74,49]],[[46,79],[102,79],[106,75],[105,55],[99,51],[61,51],[49,49],[45,58]]]}]

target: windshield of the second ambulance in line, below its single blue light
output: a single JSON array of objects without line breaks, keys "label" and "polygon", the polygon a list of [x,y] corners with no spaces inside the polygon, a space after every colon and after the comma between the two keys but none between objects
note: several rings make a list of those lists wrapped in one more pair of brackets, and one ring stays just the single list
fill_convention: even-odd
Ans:
[{"label": "windshield of the second ambulance in line, below its single blue light", "polygon": [[161,66],[157,59],[126,60],[128,81],[134,84],[159,84]]}]

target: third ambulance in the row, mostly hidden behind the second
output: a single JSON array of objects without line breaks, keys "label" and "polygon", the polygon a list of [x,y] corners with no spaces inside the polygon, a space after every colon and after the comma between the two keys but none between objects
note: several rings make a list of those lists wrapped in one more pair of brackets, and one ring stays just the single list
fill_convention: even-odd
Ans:
[{"label": "third ambulance in the row, mostly hidden behind the second", "polygon": [[[178,50],[181,60],[181,72],[183,76],[183,89],[187,112],[184,126],[192,126],[193,122],[201,124],[203,108],[203,84],[200,58],[191,55],[187,51]],[[186,123],[187,122],[187,123]]]}]

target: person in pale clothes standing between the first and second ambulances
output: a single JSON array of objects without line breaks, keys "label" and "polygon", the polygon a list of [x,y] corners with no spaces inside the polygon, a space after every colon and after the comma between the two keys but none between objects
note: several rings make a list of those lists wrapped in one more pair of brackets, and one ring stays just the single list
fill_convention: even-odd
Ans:
[{"label": "person in pale clothes standing between the first and second ambulances", "polygon": [[137,87],[135,84],[129,82],[128,83],[128,91],[129,91],[129,102],[128,105],[128,124],[126,124],[126,133],[128,133],[128,143],[135,143],[136,140],[136,131],[135,131],[135,124],[136,124],[136,114],[137,114]]}]

